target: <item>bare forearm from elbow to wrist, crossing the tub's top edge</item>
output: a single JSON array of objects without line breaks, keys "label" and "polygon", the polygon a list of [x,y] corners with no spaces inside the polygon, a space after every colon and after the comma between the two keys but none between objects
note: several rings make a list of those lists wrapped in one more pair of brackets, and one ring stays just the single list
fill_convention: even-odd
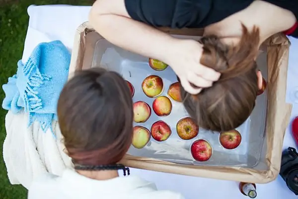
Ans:
[{"label": "bare forearm from elbow to wrist, crossing the tub's top edge", "polygon": [[149,25],[117,14],[90,12],[93,28],[109,42],[146,57],[167,62],[178,39]]}]

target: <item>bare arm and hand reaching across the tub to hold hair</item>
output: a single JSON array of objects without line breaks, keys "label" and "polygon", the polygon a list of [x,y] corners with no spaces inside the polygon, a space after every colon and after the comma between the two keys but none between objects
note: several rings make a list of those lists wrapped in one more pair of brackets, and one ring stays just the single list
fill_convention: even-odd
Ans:
[{"label": "bare arm and hand reaching across the tub to hold hair", "polygon": [[[157,2],[159,1],[144,0],[142,3],[154,5]],[[168,2],[163,1],[163,5],[167,5]],[[150,12],[154,14],[155,8]],[[158,17],[163,19],[164,16]],[[200,64],[203,52],[201,44],[194,40],[174,38],[132,19],[126,10],[124,0],[96,0],[91,8],[89,21],[109,42],[170,65],[188,93],[197,94],[201,91],[200,88],[211,87],[220,77],[215,70]],[[199,88],[191,86],[190,83]]]}]

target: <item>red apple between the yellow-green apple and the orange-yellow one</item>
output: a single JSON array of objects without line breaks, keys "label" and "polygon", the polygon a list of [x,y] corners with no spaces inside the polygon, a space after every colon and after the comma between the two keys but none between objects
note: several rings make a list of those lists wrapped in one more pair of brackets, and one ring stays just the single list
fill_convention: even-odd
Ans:
[{"label": "red apple between the yellow-green apple and the orange-yellow one", "polygon": [[164,141],[172,134],[171,128],[164,121],[156,121],[151,126],[151,135],[156,141]]}]

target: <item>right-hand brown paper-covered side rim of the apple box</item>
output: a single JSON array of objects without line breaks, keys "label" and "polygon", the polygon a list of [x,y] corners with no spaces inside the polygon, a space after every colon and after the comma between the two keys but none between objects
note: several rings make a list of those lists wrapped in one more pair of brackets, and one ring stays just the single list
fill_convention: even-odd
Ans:
[{"label": "right-hand brown paper-covered side rim of the apple box", "polygon": [[286,103],[290,41],[284,34],[276,34],[264,44],[268,53],[268,99],[271,99],[266,120],[267,162],[272,181],[279,175],[284,135],[292,112],[292,104]]}]

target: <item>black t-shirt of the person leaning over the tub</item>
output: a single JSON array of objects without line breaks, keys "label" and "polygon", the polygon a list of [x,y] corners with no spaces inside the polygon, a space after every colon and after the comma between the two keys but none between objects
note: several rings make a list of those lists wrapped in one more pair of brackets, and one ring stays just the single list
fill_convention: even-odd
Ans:
[{"label": "black t-shirt of the person leaning over the tub", "polygon": [[[265,0],[292,11],[298,19],[298,0]],[[129,15],[149,25],[203,28],[223,20],[253,0],[125,0]],[[298,28],[291,34],[298,38]]]}]

